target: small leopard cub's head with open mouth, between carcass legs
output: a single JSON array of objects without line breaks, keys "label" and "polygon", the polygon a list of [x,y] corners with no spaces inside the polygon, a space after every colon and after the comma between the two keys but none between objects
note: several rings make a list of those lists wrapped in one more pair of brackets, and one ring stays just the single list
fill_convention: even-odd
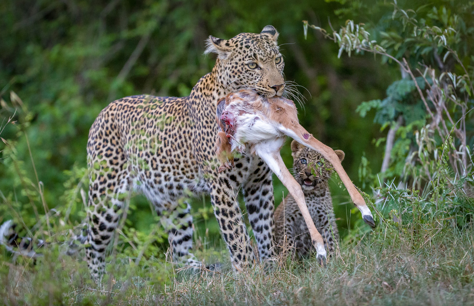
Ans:
[{"label": "small leopard cub's head with open mouth, between carcass legs", "polygon": [[[344,152],[334,150],[339,160],[344,159]],[[303,190],[310,190],[317,184],[327,182],[333,167],[315,150],[304,147],[296,140],[292,141],[293,175]]]}]

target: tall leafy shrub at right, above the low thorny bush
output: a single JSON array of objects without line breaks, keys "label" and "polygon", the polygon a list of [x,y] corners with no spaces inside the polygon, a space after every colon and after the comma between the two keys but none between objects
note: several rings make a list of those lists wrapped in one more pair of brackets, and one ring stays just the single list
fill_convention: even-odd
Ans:
[{"label": "tall leafy shrub at right, above the low thorny bush", "polygon": [[[382,128],[390,126],[391,135],[386,139],[388,151],[382,167],[383,177],[398,176],[401,184],[404,184],[416,179],[410,177],[407,170],[417,165],[417,170],[425,172],[426,179],[431,181],[426,157],[437,149],[444,152],[442,146],[449,143],[452,144],[447,149],[447,155],[451,156],[451,170],[458,176],[457,179],[468,178],[473,171],[472,160],[468,157],[474,146],[471,120],[474,106],[471,79],[474,75],[474,58],[468,48],[473,44],[474,23],[472,18],[465,15],[465,10],[472,9],[473,4],[447,1],[437,6],[415,1],[410,4],[403,2],[407,8],[402,8],[402,3],[395,1],[393,5],[392,21],[382,19],[384,31],[380,31],[380,23],[374,26],[347,20],[346,26],[338,32],[333,30],[330,35],[321,27],[310,26],[307,21],[303,21],[305,35],[308,27],[319,30],[338,44],[339,57],[342,52],[347,52],[349,56],[351,52],[371,52],[374,55],[381,54],[383,61],[390,60],[399,66],[402,79],[387,88],[387,97],[363,102],[357,108],[363,117],[375,109],[374,122],[381,124]],[[353,16],[358,17],[357,13],[353,13]],[[367,29],[370,30],[370,27],[380,31],[380,45],[376,40],[369,39]],[[414,151],[422,150],[417,137],[419,129],[423,131],[425,124],[428,124],[424,130],[428,130],[426,137],[437,149],[414,159]],[[381,141],[377,141],[377,145]],[[434,159],[437,159],[436,156]],[[389,161],[391,167],[388,167]],[[419,188],[424,186],[420,185]],[[472,185],[466,184],[464,193],[470,193],[471,189]]]}]

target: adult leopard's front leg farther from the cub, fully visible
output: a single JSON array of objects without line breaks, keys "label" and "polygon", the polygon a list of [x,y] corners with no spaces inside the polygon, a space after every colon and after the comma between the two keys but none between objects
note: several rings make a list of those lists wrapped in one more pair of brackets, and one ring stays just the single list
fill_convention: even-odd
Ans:
[{"label": "adult leopard's front leg farther from the cub, fully visible", "polygon": [[210,182],[210,200],[214,214],[230,252],[233,267],[242,271],[255,264],[255,254],[237,201],[237,186],[228,176],[218,173]]}]

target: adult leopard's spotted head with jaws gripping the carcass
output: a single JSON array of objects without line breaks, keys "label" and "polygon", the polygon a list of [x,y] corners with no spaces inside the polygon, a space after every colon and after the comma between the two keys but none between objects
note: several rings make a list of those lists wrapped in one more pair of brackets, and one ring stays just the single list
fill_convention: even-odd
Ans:
[{"label": "adult leopard's spotted head with jaws gripping the carcass", "polygon": [[247,90],[265,97],[281,96],[285,87],[278,32],[265,26],[260,34],[241,33],[229,40],[210,36],[205,54],[218,54],[215,69],[223,94]]}]

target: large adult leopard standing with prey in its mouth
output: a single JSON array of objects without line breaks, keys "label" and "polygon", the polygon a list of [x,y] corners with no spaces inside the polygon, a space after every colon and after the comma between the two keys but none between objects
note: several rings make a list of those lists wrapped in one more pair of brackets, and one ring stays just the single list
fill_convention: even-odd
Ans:
[{"label": "large adult leopard standing with prey in its mouth", "polygon": [[210,193],[214,213],[236,269],[256,262],[236,201],[242,187],[260,261],[274,254],[272,172],[258,157],[236,158],[218,173],[217,101],[247,89],[265,97],[285,87],[278,32],[210,36],[205,53],[217,53],[212,71],[187,97],[130,96],[112,102],[92,124],[87,143],[90,169],[86,249],[93,278],[105,266],[105,249],[129,191],[143,192],[168,230],[173,261],[198,267],[192,250],[192,217],[186,197]]}]

